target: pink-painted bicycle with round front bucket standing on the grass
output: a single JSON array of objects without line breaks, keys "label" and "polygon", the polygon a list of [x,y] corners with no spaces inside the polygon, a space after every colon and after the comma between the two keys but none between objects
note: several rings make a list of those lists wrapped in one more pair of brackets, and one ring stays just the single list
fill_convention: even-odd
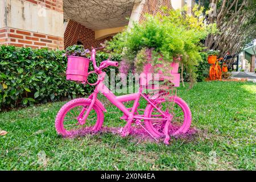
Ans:
[{"label": "pink-painted bicycle with round front bucket standing on the grass", "polygon": [[[109,66],[118,67],[118,62],[108,59],[102,61],[100,67],[97,67],[95,56],[96,49],[92,49],[90,59],[69,57],[68,80],[86,82],[90,73],[97,73],[98,80],[96,83],[90,84],[96,85],[96,88],[89,98],[76,98],[61,107],[55,121],[58,134],[63,137],[69,137],[84,130],[97,132],[101,129],[106,109],[97,99],[99,92],[122,111],[123,116],[121,119],[125,119],[127,122],[120,131],[123,137],[129,135],[133,123],[141,126],[156,140],[165,137],[165,144],[169,144],[170,136],[187,133],[192,120],[191,111],[186,102],[176,96],[174,89],[171,89],[170,92],[170,90],[160,88],[157,93],[143,93],[143,89],[146,88],[145,85],[147,84],[141,83],[138,93],[117,97],[105,86],[104,78],[106,73],[102,69]],[[89,61],[92,61],[94,71],[88,73]],[[177,76],[178,73],[175,74]],[[146,108],[139,108],[141,99],[146,100]],[[127,108],[123,104],[123,102],[127,101],[134,101],[133,107]]]}]

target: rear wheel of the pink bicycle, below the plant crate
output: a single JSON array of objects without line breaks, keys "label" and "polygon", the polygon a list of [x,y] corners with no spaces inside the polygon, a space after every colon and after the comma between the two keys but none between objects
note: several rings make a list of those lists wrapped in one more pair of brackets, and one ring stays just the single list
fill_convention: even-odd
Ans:
[{"label": "rear wheel of the pink bicycle, below the plant crate", "polygon": [[[174,118],[172,119],[169,130],[168,130],[169,134],[171,136],[177,136],[180,134],[187,133],[189,127],[191,126],[191,121],[192,121],[191,110],[189,109],[187,103],[183,101],[180,97],[170,96],[168,98],[169,100],[165,100],[164,98],[160,98],[160,99],[158,98],[158,101],[156,101],[155,104],[160,105],[162,103],[165,103],[171,106],[174,105],[174,109],[172,109],[171,111],[164,111],[161,109],[162,111],[164,111],[164,113],[174,115]],[[175,108],[180,110],[179,122],[178,122],[178,119],[176,119],[175,117],[176,115]],[[161,114],[159,115],[157,114],[157,112],[159,113],[159,111],[156,111],[156,109],[151,104],[148,104],[145,109],[144,117],[151,118],[151,117],[154,117],[154,115],[158,115],[157,118],[163,118],[160,116]],[[154,137],[159,138],[164,136],[163,128],[166,121],[145,120],[144,123],[145,123],[146,129],[152,135],[154,135]]]}]

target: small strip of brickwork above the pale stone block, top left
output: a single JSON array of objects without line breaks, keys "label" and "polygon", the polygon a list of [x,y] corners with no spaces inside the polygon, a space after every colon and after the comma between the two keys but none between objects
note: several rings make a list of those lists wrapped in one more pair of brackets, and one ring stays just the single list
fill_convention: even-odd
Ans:
[{"label": "small strip of brickwork above the pale stone block, top left", "polygon": [[63,12],[63,0],[24,0],[51,10]]}]

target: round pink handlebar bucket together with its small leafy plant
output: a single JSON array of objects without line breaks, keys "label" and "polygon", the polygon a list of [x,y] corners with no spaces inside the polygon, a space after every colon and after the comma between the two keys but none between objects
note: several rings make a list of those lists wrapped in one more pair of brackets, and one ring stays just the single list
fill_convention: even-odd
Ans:
[{"label": "round pink handlebar bucket together with its small leafy plant", "polygon": [[68,57],[67,80],[86,82],[89,68],[89,50],[82,45],[73,45],[66,49],[63,56]]}]

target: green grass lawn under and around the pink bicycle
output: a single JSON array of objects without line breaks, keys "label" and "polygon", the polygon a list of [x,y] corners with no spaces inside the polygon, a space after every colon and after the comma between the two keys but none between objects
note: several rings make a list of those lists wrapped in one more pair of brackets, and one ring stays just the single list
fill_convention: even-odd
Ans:
[{"label": "green grass lawn under and around the pink bicycle", "polygon": [[[169,146],[111,133],[63,139],[54,122],[65,102],[2,112],[0,130],[9,133],[0,136],[0,169],[255,170],[255,84],[200,82],[177,94],[191,107],[198,132]],[[105,126],[125,125],[118,109],[106,109]]]}]

